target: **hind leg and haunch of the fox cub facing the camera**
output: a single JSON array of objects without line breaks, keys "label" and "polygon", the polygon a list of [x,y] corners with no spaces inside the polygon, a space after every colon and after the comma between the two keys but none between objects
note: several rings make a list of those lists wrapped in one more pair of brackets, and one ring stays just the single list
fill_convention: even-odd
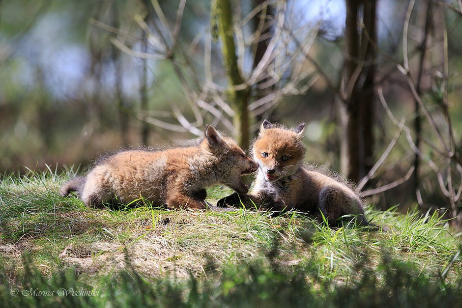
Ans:
[{"label": "hind leg and haunch of the fox cub facing the camera", "polygon": [[[364,209],[361,200],[356,196],[348,196],[344,191],[335,186],[326,186],[319,193],[319,209],[329,224],[335,224],[336,220],[347,214],[358,215],[359,224],[368,224],[364,217]],[[319,215],[319,218],[320,215]]]}]

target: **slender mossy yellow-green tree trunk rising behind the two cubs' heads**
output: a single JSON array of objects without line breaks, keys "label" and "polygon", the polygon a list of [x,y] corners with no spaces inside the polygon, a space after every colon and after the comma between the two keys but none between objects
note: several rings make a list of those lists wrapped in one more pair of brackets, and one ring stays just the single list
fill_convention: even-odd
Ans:
[{"label": "slender mossy yellow-green tree trunk rising behind the two cubs' heads", "polygon": [[218,35],[222,40],[222,54],[225,61],[225,69],[228,76],[228,96],[234,110],[233,123],[237,129],[237,143],[243,149],[249,146],[249,94],[250,88],[236,89],[242,85],[244,79],[237,66],[236,46],[234,42],[234,29],[232,24],[232,10],[230,0],[215,0],[215,14],[218,20]]}]

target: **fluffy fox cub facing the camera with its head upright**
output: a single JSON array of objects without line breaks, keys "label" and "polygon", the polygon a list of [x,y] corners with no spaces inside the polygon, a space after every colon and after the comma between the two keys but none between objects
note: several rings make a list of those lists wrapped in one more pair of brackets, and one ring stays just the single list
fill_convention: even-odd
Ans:
[{"label": "fluffy fox cub facing the camera with its head upright", "polygon": [[346,184],[302,165],[306,151],[302,144],[304,130],[305,123],[291,130],[264,120],[253,144],[259,172],[251,194],[237,192],[219,200],[218,206],[239,206],[243,202],[253,207],[254,202],[263,208],[297,209],[318,217],[322,212],[329,224],[343,215],[355,214],[360,224],[368,224],[359,196]]}]

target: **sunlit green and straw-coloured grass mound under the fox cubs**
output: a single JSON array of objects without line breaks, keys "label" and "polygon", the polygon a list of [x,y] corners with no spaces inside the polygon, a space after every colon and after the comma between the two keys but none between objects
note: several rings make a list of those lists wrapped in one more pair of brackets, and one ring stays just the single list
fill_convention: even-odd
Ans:
[{"label": "sunlit green and straw-coloured grass mound under the fox cubs", "polygon": [[[364,292],[357,300],[372,301],[391,289],[405,291],[395,280],[415,285],[404,292],[409,301],[436,291],[438,296],[428,303],[462,294],[460,242],[438,212],[369,210],[367,217],[375,224],[392,226],[390,232],[371,232],[348,224],[329,228],[296,212],[272,217],[244,209],[169,211],[148,204],[100,210],[58,195],[60,184],[74,174],[50,168],[1,177],[0,298],[14,287],[67,285],[101,291],[79,302],[98,307],[133,300],[172,306],[174,301],[236,306],[239,300],[247,306],[277,306],[296,294],[336,306],[350,303],[346,294]],[[215,187],[207,201],[229,193]],[[167,302],[167,295],[173,302]],[[35,297],[16,301],[35,306],[30,298]],[[387,303],[392,302],[380,302]]]}]

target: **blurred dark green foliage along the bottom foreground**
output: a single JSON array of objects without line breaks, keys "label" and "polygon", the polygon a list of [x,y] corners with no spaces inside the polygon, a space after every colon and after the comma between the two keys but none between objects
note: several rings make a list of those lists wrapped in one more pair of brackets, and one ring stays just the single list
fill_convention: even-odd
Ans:
[{"label": "blurred dark green foliage along the bottom foreground", "polygon": [[191,275],[184,280],[168,276],[146,280],[127,259],[125,270],[104,277],[96,288],[78,281],[73,269],[47,278],[26,258],[20,285],[8,282],[0,272],[0,306],[458,307],[462,297],[462,280],[447,283],[386,254],[377,270],[372,271],[365,260],[355,268],[360,279],[342,285],[320,279],[314,260],[287,271],[273,257],[268,257],[270,266],[250,262],[223,271],[209,266],[206,279]]}]

